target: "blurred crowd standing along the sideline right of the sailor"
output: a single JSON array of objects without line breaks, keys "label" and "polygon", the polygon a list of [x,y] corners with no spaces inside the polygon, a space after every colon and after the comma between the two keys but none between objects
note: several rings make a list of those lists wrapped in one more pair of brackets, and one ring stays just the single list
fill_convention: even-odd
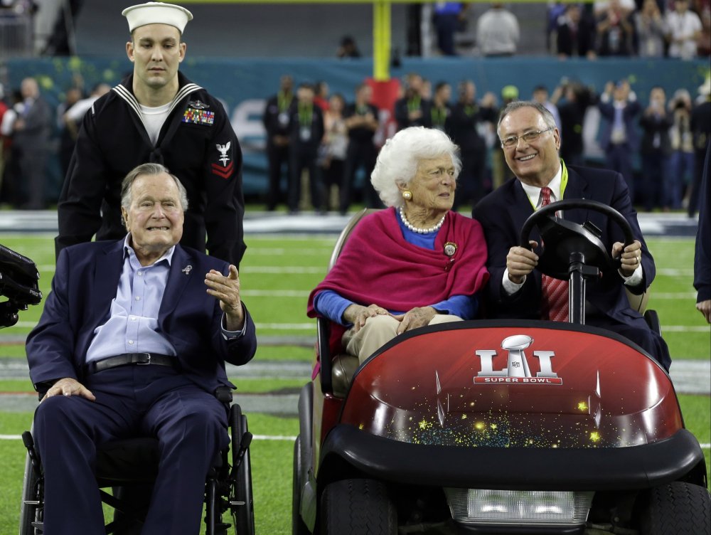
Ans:
[{"label": "blurred crowd standing along the sideline right of the sailor", "polygon": [[[463,80],[452,88],[449,83],[433,84],[410,73],[402,82],[395,102],[395,129],[418,125],[442,129],[461,149],[456,206],[466,209],[512,178],[496,135],[498,113],[513,100],[536,100],[556,118],[562,139],[560,155],[567,164],[621,172],[634,202],[645,211],[683,208],[689,216],[697,211],[711,132],[708,78],[695,95],[683,88],[666,95],[656,87],[647,102],[638,100],[627,80],[611,80],[599,90],[561,80],[555,88],[538,85],[532,95],[520,95],[518,88],[507,85],[499,95],[486,92],[481,97],[474,80]],[[297,196],[287,198],[289,211],[299,211],[301,181],[306,175],[309,208],[314,211],[345,213],[354,201],[380,206],[367,180],[356,187],[358,171],[367,177],[373,170],[377,154],[373,139],[382,127],[377,110],[369,105],[370,95],[365,84],[353,95],[331,95],[323,81],[300,83],[294,90],[292,77],[282,77],[281,87],[264,110],[271,177],[268,210],[291,193]],[[591,129],[599,132],[602,161],[584,157],[584,133]],[[287,191],[279,187],[284,178]]]}]

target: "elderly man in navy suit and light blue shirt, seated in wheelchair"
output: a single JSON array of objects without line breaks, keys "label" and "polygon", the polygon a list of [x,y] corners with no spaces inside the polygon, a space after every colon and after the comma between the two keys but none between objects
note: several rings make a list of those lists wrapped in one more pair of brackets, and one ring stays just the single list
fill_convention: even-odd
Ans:
[{"label": "elderly man in navy suit and light blue shirt, seated in wheelchair", "polygon": [[[252,359],[255,325],[237,268],[178,244],[187,198],[175,176],[143,164],[121,195],[126,238],[60,253],[27,338],[31,379],[44,392],[30,448],[43,511],[30,524],[106,533],[97,485],[106,446],[139,435],[157,440],[158,459],[141,533],[194,535],[205,478],[229,443],[225,361]],[[237,425],[246,428],[238,410]]]}]

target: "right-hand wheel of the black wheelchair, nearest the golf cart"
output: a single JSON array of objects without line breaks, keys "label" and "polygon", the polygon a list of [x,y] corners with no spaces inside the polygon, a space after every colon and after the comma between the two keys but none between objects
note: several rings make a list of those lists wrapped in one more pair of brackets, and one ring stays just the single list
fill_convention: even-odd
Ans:
[{"label": "right-hand wheel of the black wheelchair, nearest the golf cart", "polygon": [[[230,409],[232,426],[232,489],[230,512],[237,535],[255,535],[255,503],[252,496],[252,465],[249,442],[252,435],[247,428],[247,417],[238,405]],[[246,441],[246,444],[245,444]],[[246,447],[246,449],[243,449]],[[240,459],[241,457],[241,459]],[[237,470],[234,467],[237,466]]]}]

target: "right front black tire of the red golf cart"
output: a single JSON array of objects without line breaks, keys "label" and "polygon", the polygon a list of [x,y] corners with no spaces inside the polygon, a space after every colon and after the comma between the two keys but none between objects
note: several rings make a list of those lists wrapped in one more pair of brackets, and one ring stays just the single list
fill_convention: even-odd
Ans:
[{"label": "right front black tire of the red golf cart", "polygon": [[640,516],[641,535],[711,533],[711,497],[704,487],[672,482],[647,493]]}]

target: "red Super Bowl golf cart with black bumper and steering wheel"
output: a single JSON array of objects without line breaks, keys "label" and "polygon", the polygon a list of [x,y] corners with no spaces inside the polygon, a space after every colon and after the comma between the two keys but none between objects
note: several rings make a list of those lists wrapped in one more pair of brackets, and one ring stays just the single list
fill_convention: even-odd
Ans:
[{"label": "red Super Bowl golf cart with black bumper and steering wheel", "polygon": [[422,327],[358,366],[334,354],[319,319],[299,398],[295,535],[710,532],[704,456],[667,372],[584,324],[587,283],[618,266],[596,226],[555,216],[571,208],[633,240],[624,217],[594,201],[552,203],[526,221],[520,243],[534,229],[545,243],[539,269],[570,280],[569,323]]}]

